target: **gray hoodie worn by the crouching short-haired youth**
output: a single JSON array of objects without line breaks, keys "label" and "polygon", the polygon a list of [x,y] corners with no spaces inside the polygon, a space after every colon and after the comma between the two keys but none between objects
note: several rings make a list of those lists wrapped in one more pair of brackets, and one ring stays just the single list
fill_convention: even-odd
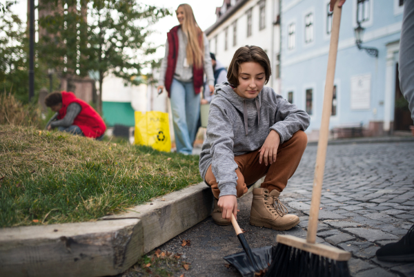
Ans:
[{"label": "gray hoodie worn by the crouching short-haired youth", "polygon": [[264,87],[255,99],[246,99],[224,82],[215,86],[214,94],[199,170],[204,179],[211,164],[220,196],[237,195],[235,156],[259,149],[270,130],[279,134],[280,144],[286,142],[297,131],[308,128],[310,117],[273,88]]}]

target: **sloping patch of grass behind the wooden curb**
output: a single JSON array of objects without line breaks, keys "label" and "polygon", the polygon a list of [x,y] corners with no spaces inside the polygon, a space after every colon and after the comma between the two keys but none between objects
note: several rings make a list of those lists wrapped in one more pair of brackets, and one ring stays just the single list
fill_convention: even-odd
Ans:
[{"label": "sloping patch of grass behind the wooden curb", "polygon": [[197,155],[0,125],[0,227],[97,220],[201,182]]}]

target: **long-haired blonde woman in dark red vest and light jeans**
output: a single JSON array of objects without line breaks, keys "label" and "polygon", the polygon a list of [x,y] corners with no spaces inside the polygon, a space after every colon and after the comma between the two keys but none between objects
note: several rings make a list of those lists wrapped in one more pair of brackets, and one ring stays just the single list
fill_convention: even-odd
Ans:
[{"label": "long-haired blonde woman in dark red vest and light jeans", "polygon": [[208,39],[195,21],[193,9],[181,4],[175,11],[179,25],[167,34],[157,90],[170,97],[177,152],[191,155],[200,109],[200,90],[206,73],[209,92],[214,90]]}]

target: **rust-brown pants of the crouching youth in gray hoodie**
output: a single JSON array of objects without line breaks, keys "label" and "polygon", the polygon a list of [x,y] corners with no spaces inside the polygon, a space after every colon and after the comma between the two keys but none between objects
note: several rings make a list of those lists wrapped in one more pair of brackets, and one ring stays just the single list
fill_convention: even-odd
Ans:
[{"label": "rust-brown pants of the crouching youth in gray hoodie", "polygon": [[[246,153],[244,155],[235,156],[235,162],[239,166],[236,169],[237,174],[237,197],[241,197],[247,193],[247,185],[254,184],[266,175],[264,182],[260,187],[273,191],[283,191],[288,184],[288,180],[295,173],[300,159],[306,149],[308,137],[304,131],[297,131],[290,137],[290,140],[279,145],[277,149],[276,162],[273,164],[264,165],[259,164],[258,150]],[[211,165],[208,166],[206,176],[204,177],[207,184],[211,187],[215,198],[219,198],[219,187],[217,180],[211,170]]]}]

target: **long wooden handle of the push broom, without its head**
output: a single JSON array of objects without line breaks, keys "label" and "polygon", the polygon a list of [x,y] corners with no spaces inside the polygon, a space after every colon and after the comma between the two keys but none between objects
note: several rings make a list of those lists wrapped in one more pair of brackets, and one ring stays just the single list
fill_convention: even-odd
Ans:
[{"label": "long wooden handle of the push broom, without its head", "polygon": [[322,182],[324,180],[326,147],[328,146],[329,119],[332,111],[333,81],[335,78],[335,64],[338,50],[339,25],[341,23],[342,8],[339,8],[339,0],[333,9],[333,22],[331,28],[331,45],[329,46],[328,69],[326,70],[326,82],[324,93],[324,106],[322,108],[322,121],[319,130],[319,142],[317,144],[317,155],[315,175],[313,177],[313,193],[311,211],[309,213],[308,233],[306,241],[315,243],[317,232],[317,220],[319,216],[319,205],[321,203]]}]

